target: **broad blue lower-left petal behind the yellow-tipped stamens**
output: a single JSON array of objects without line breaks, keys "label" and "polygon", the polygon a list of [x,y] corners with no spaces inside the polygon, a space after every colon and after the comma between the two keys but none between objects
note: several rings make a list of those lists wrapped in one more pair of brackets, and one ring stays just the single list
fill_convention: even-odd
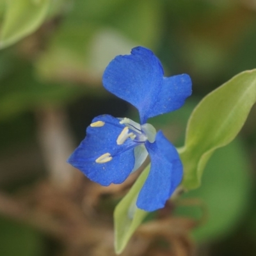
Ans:
[{"label": "broad blue lower-left petal behind the yellow-tipped stamens", "polygon": [[[134,168],[134,143],[128,138],[124,144],[117,145],[116,139],[125,125],[110,115],[101,115],[93,122],[102,121],[102,127],[86,129],[86,138],[68,159],[68,163],[78,168],[89,179],[103,186],[111,183],[124,182]],[[103,154],[109,153],[113,158],[106,163],[96,163],[95,160]]]}]

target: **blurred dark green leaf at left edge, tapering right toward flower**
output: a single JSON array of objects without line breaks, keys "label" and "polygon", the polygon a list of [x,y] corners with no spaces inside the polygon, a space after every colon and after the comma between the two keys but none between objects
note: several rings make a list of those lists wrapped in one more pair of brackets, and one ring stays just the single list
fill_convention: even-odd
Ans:
[{"label": "blurred dark green leaf at left edge, tapering right toward flower", "polygon": [[67,84],[42,83],[33,76],[29,66],[20,68],[15,76],[2,81],[0,86],[0,119],[22,111],[41,108],[47,104],[58,105],[81,95],[81,90]]}]

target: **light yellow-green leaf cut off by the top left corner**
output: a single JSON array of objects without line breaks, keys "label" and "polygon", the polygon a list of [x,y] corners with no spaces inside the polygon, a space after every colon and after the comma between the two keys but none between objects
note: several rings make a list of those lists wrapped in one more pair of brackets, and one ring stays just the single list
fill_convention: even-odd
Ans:
[{"label": "light yellow-green leaf cut off by the top left corner", "polygon": [[49,3],[49,0],[6,0],[0,47],[3,49],[33,33],[44,21]]}]

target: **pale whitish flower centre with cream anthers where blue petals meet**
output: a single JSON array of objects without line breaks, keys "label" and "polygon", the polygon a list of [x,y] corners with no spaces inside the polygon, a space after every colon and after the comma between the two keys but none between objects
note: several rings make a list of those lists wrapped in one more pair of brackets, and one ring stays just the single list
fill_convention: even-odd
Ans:
[{"label": "pale whitish flower centre with cream anthers where blue petals meet", "polygon": [[151,124],[140,125],[129,118],[119,118],[120,124],[125,127],[119,134],[116,143],[122,145],[127,138],[131,138],[134,142],[145,143],[147,140],[153,143],[156,140],[156,129]]}]

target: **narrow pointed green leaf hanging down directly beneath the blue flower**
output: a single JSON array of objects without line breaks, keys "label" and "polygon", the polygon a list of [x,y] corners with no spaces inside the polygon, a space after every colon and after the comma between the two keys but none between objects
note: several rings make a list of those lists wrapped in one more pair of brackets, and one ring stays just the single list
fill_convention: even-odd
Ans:
[{"label": "narrow pointed green leaf hanging down directly beneath the blue flower", "polygon": [[118,254],[122,253],[132,234],[148,214],[148,212],[136,207],[136,200],[148,177],[149,170],[150,166],[147,166],[127,195],[115,208],[115,252]]}]

